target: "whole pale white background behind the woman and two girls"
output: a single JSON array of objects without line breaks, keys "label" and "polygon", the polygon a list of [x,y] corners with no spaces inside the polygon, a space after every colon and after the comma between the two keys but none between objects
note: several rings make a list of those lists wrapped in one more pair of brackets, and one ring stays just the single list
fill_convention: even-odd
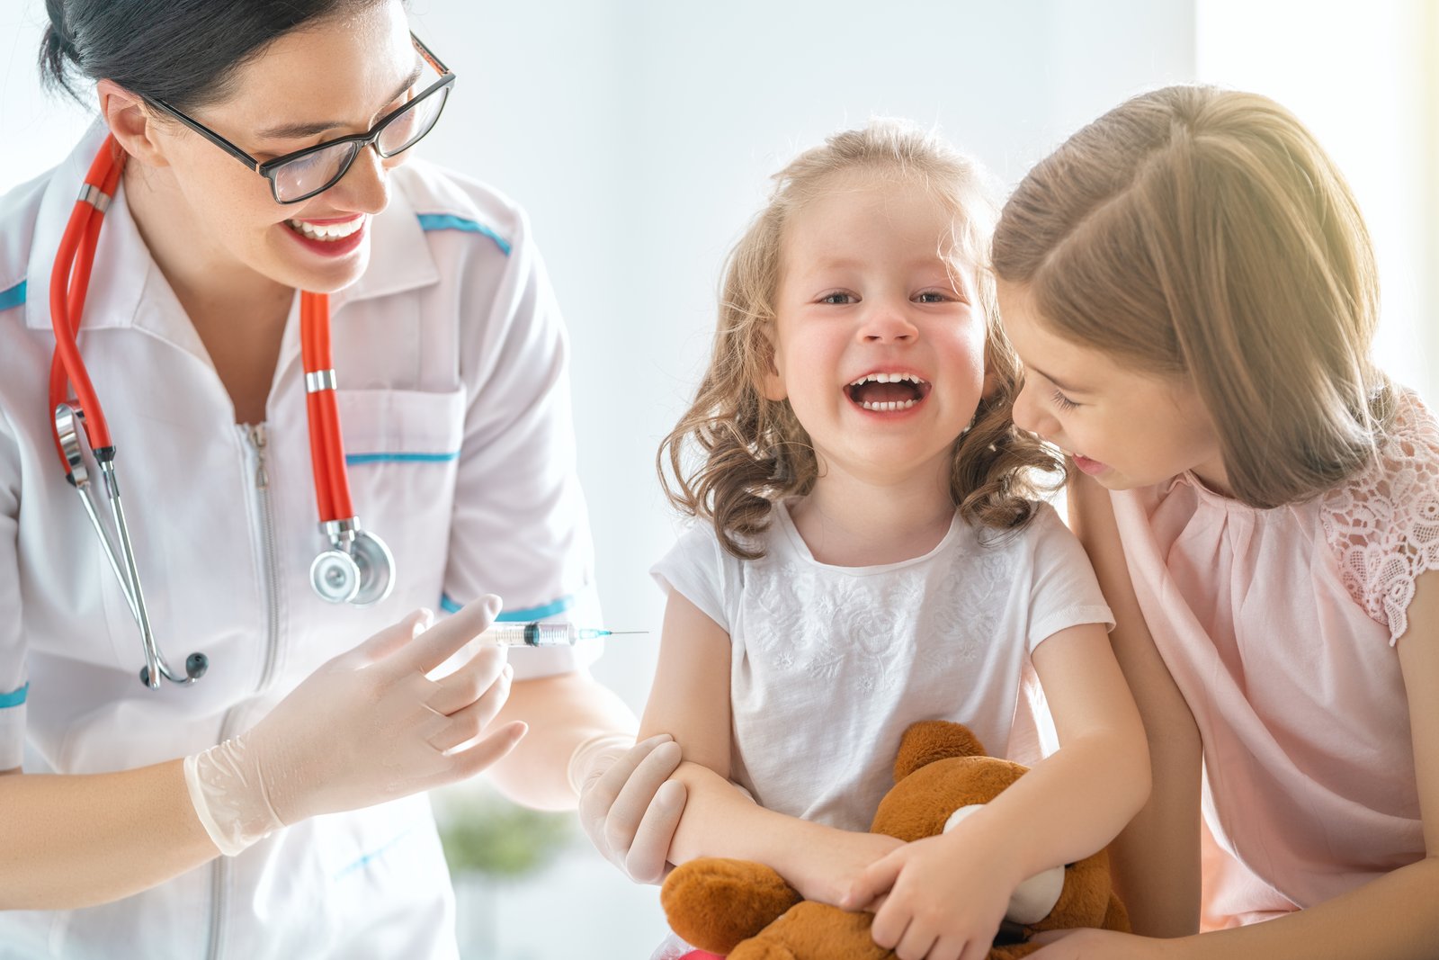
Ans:
[{"label": "whole pale white background behind the woman and two girls", "polygon": [[[1425,0],[413,0],[459,73],[426,155],[530,210],[574,345],[580,471],[614,629],[596,671],[636,711],[662,597],[646,570],[673,520],[653,456],[708,348],[720,262],[767,176],[825,134],[892,114],[937,124],[1006,186],[1127,95],[1194,79],[1288,104],[1350,176],[1380,252],[1387,366],[1433,399],[1439,253],[1435,68]],[[69,148],[43,99],[43,3],[0,12],[0,190]],[[23,148],[16,148],[22,144]],[[1427,356],[1427,363],[1426,363]],[[648,956],[649,889],[583,851],[484,897],[486,956]],[[481,902],[479,900],[473,902]],[[496,905],[498,904],[498,905]],[[481,910],[481,907],[475,907]]]}]

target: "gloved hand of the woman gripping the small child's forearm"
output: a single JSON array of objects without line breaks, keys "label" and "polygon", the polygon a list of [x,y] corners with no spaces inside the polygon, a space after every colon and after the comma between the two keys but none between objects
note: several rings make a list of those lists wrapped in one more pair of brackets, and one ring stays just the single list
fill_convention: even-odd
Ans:
[{"label": "gloved hand of the woman gripping the small child's forearm", "polygon": [[665,878],[669,842],[685,809],[685,784],[669,780],[679,744],[659,734],[603,734],[570,757],[570,786],[580,794],[580,823],[594,848],[639,884]]}]

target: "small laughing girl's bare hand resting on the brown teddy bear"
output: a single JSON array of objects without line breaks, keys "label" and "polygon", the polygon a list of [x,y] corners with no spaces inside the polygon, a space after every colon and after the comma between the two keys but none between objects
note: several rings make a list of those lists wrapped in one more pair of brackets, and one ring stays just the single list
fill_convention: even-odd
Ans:
[{"label": "small laughing girl's bare hand resting on the brown teddy bear", "polygon": [[839,905],[876,910],[871,934],[901,960],[981,960],[1017,881],[997,874],[1004,858],[971,835],[963,845],[953,833],[904,845],[871,865]]}]

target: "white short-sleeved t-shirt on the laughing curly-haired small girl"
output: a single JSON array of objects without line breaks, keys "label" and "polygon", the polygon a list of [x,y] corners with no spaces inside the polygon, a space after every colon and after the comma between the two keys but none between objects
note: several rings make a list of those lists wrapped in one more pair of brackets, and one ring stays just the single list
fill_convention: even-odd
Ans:
[{"label": "white short-sleeved t-shirt on the laughing curly-haired small girl", "polygon": [[696,524],[650,573],[730,633],[731,777],[780,813],[869,828],[920,720],[967,724],[1006,756],[1029,653],[1114,617],[1053,508],[1007,535],[955,514],[922,557],[876,567],[814,560],[780,504],[764,557]]}]

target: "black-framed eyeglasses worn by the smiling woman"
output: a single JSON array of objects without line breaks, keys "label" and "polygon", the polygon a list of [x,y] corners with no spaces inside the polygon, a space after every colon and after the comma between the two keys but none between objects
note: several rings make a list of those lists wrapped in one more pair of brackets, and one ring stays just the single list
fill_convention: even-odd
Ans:
[{"label": "black-framed eyeglasses worn by the smiling woman", "polygon": [[322,144],[305,147],[265,163],[249,155],[204,124],[186,117],[163,99],[148,102],[269,180],[271,193],[275,194],[278,203],[299,203],[340,183],[364,147],[373,144],[377,154],[390,158],[413,147],[435,128],[435,121],[440,118],[445,101],[455,85],[455,73],[417,36],[412,33],[410,40],[425,62],[440,75],[437,81],[386,114],[368,132],[327,140]]}]

